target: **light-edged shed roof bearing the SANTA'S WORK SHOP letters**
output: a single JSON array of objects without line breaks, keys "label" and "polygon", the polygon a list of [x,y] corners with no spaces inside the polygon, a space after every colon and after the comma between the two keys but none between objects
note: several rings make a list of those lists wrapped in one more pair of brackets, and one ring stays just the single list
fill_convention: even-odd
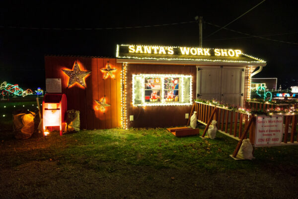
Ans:
[{"label": "light-edged shed roof bearing the SANTA'S WORK SHOP letters", "polygon": [[266,65],[264,60],[246,55],[241,50],[219,48],[121,44],[117,45],[116,57],[138,60],[263,63],[263,66]]}]

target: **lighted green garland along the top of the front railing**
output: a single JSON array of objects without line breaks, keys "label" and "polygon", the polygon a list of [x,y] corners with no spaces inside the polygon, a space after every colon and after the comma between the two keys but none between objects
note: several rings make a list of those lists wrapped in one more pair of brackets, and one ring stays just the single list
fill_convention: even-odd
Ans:
[{"label": "lighted green garland along the top of the front railing", "polygon": [[270,116],[272,114],[298,114],[298,109],[294,108],[294,107],[291,107],[291,108],[276,107],[276,108],[269,108],[269,109],[266,109],[266,111],[263,111],[262,109],[242,108],[242,107],[238,107],[238,106],[228,104],[228,103],[221,103],[220,101],[217,101],[217,100],[197,99],[195,101],[210,104],[210,105],[216,105],[216,106],[223,107],[223,108],[231,110],[231,111],[237,111],[240,113],[252,114],[252,115],[257,114],[257,115]]}]

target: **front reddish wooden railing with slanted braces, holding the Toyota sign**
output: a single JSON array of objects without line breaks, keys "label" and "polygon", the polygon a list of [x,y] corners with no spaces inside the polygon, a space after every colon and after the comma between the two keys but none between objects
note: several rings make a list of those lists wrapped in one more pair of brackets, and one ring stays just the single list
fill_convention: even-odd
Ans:
[{"label": "front reddish wooden railing with slanted braces, holding the Toyota sign", "polygon": [[[202,137],[205,137],[211,121],[215,119],[217,120],[217,128],[219,132],[239,141],[233,153],[233,157],[236,157],[243,139],[246,139],[248,137],[250,139],[250,142],[254,146],[257,115],[251,115],[250,113],[243,113],[241,111],[229,110],[225,107],[198,101],[194,102],[191,114],[193,111],[197,111],[196,115],[198,122],[206,125]],[[298,116],[295,114],[279,115],[283,115],[285,121],[282,143],[259,145],[254,147],[298,144],[298,133],[296,130]],[[190,118],[187,125],[189,125],[189,122]],[[291,133],[289,133],[289,128],[291,128]]]}]

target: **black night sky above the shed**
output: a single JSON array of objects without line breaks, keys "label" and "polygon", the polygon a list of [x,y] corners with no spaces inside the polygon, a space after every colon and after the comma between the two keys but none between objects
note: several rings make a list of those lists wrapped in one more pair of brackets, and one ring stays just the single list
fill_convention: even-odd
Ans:
[{"label": "black night sky above the shed", "polygon": [[[0,82],[23,89],[45,87],[44,55],[115,57],[116,44],[193,46],[199,44],[196,22],[203,16],[203,47],[233,48],[267,61],[254,78],[278,78],[278,84],[298,79],[298,27],[295,1],[266,0],[228,29],[263,36],[250,37],[219,27],[236,19],[262,0],[242,1],[13,1],[0,11]],[[123,29],[115,29],[123,27]],[[37,29],[36,29],[37,28]],[[48,28],[48,29],[43,29]],[[76,30],[75,28],[91,28]],[[111,28],[95,30],[92,28]],[[295,85],[296,83],[293,82]],[[288,85],[293,86],[293,85]],[[297,83],[298,86],[298,83]]]}]

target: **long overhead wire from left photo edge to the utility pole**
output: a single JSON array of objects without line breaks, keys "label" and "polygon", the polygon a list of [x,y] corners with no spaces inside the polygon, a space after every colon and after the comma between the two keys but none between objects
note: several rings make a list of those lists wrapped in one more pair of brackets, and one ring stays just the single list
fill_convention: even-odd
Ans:
[{"label": "long overhead wire from left photo edge to the utility pole", "polygon": [[31,29],[31,30],[116,30],[116,29],[130,29],[130,28],[147,28],[147,27],[158,27],[158,26],[170,26],[180,25],[187,23],[196,23],[196,21],[186,21],[178,23],[166,23],[166,24],[155,24],[155,25],[143,25],[143,26],[129,26],[129,27],[112,27],[112,28],[38,28],[38,27],[17,27],[17,26],[3,26],[0,28],[14,28],[14,29]]}]

